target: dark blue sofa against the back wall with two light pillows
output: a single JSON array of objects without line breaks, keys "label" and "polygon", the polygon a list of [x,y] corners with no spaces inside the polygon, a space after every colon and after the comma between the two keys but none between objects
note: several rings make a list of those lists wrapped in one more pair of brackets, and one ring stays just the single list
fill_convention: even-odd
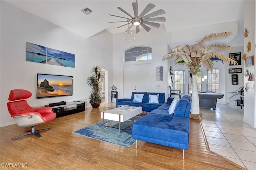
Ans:
[{"label": "dark blue sofa against the back wall with two light pillows", "polygon": [[[134,95],[135,94],[142,94],[142,102],[135,102]],[[149,103],[150,95],[158,95],[158,102],[159,103]],[[142,107],[142,111],[151,112],[154,109],[157,109],[159,106],[164,104],[165,102],[165,93],[148,93],[148,92],[132,92],[131,99],[116,99],[116,107],[118,105],[129,105],[135,107]]]}]

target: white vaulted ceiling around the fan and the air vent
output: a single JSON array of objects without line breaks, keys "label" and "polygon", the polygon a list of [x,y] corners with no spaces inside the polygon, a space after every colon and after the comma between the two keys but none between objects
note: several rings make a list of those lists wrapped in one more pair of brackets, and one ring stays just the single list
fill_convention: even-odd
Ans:
[{"label": "white vaulted ceiling around the fan and the air vent", "polygon": [[[124,32],[128,26],[116,28],[125,24],[124,22],[117,24],[108,22],[126,19],[109,14],[128,17],[117,9],[120,6],[134,16],[132,2],[136,0],[7,0],[6,2],[84,38],[89,38],[102,30],[108,30],[112,34]],[[166,22],[158,22],[164,24],[166,32],[232,21],[243,22],[243,0],[138,0],[138,14],[148,3],[156,5],[149,13],[159,9],[166,12],[161,15],[166,18]],[[85,15],[81,10],[86,7],[93,12]],[[152,27],[152,29],[158,28]]]}]

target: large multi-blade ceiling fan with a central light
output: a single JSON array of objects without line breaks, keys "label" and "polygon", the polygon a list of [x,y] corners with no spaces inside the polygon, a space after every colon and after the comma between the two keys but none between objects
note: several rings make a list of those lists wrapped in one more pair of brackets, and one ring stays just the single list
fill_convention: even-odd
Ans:
[{"label": "large multi-blade ceiling fan with a central light", "polygon": [[[147,32],[149,32],[150,27],[146,26],[145,24],[156,27],[156,28],[159,28],[160,24],[156,23],[156,22],[159,22],[159,21],[160,22],[165,22],[166,21],[166,19],[164,17],[152,18],[154,16],[165,14],[164,10],[162,10],[162,9],[157,10],[155,12],[152,12],[152,13],[146,15],[148,12],[150,12],[150,10],[152,10],[155,7],[154,4],[148,4],[139,16],[138,16],[137,0],[136,0],[136,2],[132,3],[132,7],[133,7],[133,11],[134,11],[134,17],[131,16],[125,10],[123,10],[121,7],[119,7],[119,6],[117,7],[119,10],[121,10],[122,12],[124,12],[126,15],[128,15],[130,17],[130,18],[126,18],[126,17],[122,17],[122,16],[116,16],[116,17],[119,17],[119,18],[127,19],[126,21],[117,21],[117,22],[128,22],[127,24],[124,24],[122,26],[126,26],[128,24],[131,24],[131,26],[128,25],[128,29],[125,32],[129,31],[132,28],[132,26],[136,26],[136,34],[138,32],[140,32],[139,26],[142,26],[142,28],[144,28]],[[115,15],[111,15],[111,14],[109,14],[109,15],[110,16],[115,16]],[[151,21],[154,21],[154,22],[151,22]],[[109,22],[109,23],[114,23],[114,22]],[[122,26],[119,26],[119,27],[116,27],[116,28],[120,28]]]}]

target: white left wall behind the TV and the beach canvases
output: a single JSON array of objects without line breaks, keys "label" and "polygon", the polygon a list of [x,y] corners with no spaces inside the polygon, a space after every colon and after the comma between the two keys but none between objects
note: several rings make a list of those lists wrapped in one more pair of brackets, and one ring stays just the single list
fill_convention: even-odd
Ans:
[{"label": "white left wall behind the TV and the beach canvases", "polygon": [[[15,123],[6,106],[11,89],[31,91],[32,97],[27,101],[32,107],[74,100],[84,100],[86,107],[91,107],[88,103],[90,89],[86,79],[92,67],[99,65],[108,70],[109,82],[112,84],[112,34],[102,31],[85,39],[4,1],[0,3],[1,127]],[[26,61],[26,42],[75,54],[75,68]],[[73,96],[36,99],[37,73],[74,76]]]}]

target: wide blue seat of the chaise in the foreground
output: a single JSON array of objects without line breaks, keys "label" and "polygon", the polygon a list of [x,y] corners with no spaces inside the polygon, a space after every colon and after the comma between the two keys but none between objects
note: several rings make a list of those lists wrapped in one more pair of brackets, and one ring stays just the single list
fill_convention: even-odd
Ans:
[{"label": "wide blue seat of the chaise in the foreground", "polygon": [[148,114],[132,125],[132,138],[188,150],[189,118]]}]

